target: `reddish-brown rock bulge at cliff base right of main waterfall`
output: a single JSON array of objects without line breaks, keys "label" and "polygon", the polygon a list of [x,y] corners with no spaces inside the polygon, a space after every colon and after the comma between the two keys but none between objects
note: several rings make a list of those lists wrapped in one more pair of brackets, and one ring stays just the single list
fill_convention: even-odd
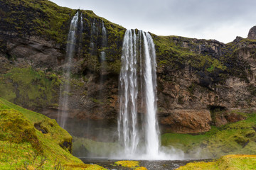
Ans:
[{"label": "reddish-brown rock bulge at cliff base right of main waterfall", "polygon": [[210,130],[210,112],[207,110],[175,110],[160,118],[165,132],[199,133]]}]

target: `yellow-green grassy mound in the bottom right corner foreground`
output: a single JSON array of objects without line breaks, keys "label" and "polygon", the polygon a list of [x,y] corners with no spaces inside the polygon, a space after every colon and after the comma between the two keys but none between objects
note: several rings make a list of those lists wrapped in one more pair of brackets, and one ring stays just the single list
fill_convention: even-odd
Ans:
[{"label": "yellow-green grassy mound in the bottom right corner foreground", "polygon": [[194,162],[179,167],[177,170],[250,170],[256,169],[256,155],[231,154],[220,157],[215,162]]}]

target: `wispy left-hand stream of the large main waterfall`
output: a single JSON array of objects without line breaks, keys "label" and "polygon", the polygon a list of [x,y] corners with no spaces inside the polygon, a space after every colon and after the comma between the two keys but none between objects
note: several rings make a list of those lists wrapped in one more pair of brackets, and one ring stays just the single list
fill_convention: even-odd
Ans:
[{"label": "wispy left-hand stream of the large main waterfall", "polygon": [[[137,128],[137,56],[136,35],[127,30],[122,48],[122,68],[119,75],[120,113],[118,118],[119,141],[124,154],[136,153],[139,144]],[[135,43],[134,43],[135,42]]]}]

